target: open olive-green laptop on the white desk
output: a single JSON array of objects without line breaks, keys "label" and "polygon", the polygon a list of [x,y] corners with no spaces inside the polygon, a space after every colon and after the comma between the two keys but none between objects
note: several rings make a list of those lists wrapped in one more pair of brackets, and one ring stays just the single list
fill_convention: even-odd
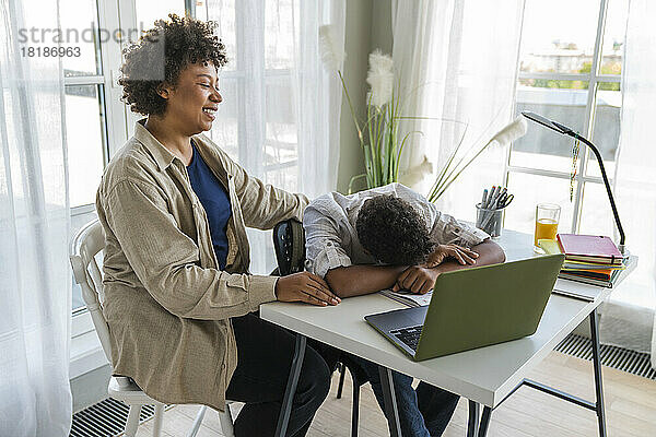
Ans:
[{"label": "open olive-green laptop on the white desk", "polygon": [[414,361],[531,335],[564,255],[442,273],[430,305],[364,319]]}]

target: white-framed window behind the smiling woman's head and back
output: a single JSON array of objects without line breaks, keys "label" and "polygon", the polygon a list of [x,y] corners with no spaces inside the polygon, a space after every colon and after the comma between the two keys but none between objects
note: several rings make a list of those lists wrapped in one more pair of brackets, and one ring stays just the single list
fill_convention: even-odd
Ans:
[{"label": "white-framed window behind the smiling woman's head and back", "polygon": [[[105,165],[127,140],[138,118],[120,102],[117,84],[120,50],[138,33],[168,13],[185,14],[184,0],[136,0],[132,8],[119,8],[122,0],[62,0],[61,28],[66,47],[79,47],[79,57],[63,59],[66,121],[69,156],[71,235],[96,217],[95,192]],[[119,11],[121,14],[119,15]],[[72,286],[73,314],[85,311],[80,287]]]}]

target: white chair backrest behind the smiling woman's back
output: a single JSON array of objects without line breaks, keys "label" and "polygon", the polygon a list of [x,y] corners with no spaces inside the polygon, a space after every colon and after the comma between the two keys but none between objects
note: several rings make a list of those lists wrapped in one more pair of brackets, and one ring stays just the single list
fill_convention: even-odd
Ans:
[{"label": "white chair backrest behind the smiling woman's back", "polygon": [[101,222],[94,220],[87,223],[73,238],[71,247],[71,267],[75,283],[82,288],[82,298],[95,327],[103,352],[112,363],[112,343],[109,342],[109,328],[102,310],[105,300],[103,293],[103,275],[95,256],[105,248],[105,233]]}]

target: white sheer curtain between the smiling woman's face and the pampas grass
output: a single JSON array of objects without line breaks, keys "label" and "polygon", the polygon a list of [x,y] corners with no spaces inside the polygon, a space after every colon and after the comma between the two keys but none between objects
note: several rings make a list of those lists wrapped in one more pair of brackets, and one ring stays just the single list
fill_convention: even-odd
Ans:
[{"label": "white sheer curtain between the smiling woman's face and the pampas grass", "polygon": [[[343,39],[344,13],[344,0],[208,2],[231,60],[212,139],[250,175],[311,199],[337,188],[341,88],[323,68],[318,29],[333,24]],[[270,273],[271,233],[248,235],[250,270]]]}]

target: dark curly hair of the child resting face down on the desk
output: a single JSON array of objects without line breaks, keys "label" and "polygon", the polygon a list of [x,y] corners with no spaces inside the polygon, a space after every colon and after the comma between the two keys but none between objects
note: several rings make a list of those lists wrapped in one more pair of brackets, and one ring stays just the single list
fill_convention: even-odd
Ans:
[{"label": "dark curly hair of the child resting face down on the desk", "polygon": [[435,247],[421,215],[391,194],[367,199],[358,213],[355,231],[362,247],[386,264],[420,264]]}]

